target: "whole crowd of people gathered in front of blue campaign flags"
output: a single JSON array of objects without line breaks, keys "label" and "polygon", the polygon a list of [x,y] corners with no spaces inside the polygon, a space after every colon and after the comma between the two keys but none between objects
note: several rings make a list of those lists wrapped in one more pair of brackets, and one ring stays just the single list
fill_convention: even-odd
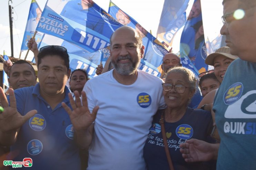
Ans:
[{"label": "whole crowd of people gathered in front of blue campaign flags", "polygon": [[4,63],[12,88],[0,88],[0,157],[31,158],[37,170],[256,169],[256,1],[223,6],[227,47],[207,56],[214,70],[199,82],[174,53],[163,57],[161,78],[138,70],[144,46],[129,26],[112,34],[108,69],[99,65],[92,79],[71,72],[65,47],[37,49],[31,39],[37,75],[27,61]]}]

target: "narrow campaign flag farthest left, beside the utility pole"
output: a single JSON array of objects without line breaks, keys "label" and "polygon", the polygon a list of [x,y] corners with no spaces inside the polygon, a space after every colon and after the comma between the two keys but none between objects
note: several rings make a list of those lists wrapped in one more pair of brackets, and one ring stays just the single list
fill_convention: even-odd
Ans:
[{"label": "narrow campaign flag farthest left, beside the utility pole", "polygon": [[[42,14],[42,11],[39,5],[37,4],[37,1],[32,0],[29,8],[27,25],[26,25],[26,29],[25,29],[22,44],[21,44],[21,51],[28,50],[28,46],[27,46],[28,41],[35,34],[36,27],[40,20],[41,14]],[[43,33],[40,33],[40,32],[36,33],[35,40],[37,43],[41,42],[42,36],[43,36]]]}]

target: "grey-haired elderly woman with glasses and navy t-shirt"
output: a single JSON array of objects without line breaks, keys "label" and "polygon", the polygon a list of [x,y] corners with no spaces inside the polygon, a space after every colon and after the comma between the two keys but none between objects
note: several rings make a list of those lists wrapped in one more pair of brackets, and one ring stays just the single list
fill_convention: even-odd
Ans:
[{"label": "grey-haired elderly woman with glasses and navy t-shirt", "polygon": [[[201,162],[185,162],[179,151],[179,144],[190,138],[210,142],[208,140],[212,128],[210,112],[188,107],[195,90],[196,78],[189,69],[175,67],[167,72],[163,83],[167,108],[159,110],[154,116],[144,147],[144,159],[148,170],[164,170],[172,166],[175,170],[204,169]],[[168,148],[165,148],[165,142]],[[171,161],[168,161],[169,156]]]}]

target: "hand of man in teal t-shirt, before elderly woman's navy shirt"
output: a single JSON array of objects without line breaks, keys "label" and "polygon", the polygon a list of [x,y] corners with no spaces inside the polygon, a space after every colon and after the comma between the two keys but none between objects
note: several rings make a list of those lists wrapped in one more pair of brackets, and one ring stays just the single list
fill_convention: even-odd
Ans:
[{"label": "hand of man in teal t-shirt, before elderly woman's navy shirt", "polygon": [[186,162],[209,161],[217,159],[219,144],[210,144],[203,140],[189,139],[180,146],[180,152]]}]

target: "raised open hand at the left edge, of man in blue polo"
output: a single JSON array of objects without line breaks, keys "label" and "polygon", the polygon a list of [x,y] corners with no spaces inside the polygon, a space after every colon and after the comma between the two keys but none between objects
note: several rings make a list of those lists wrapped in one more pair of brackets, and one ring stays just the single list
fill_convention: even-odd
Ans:
[{"label": "raised open hand at the left edge, of man in blue polo", "polygon": [[17,111],[16,98],[13,89],[9,89],[10,106],[3,89],[0,87],[0,99],[4,111],[0,113],[0,131],[8,133],[20,128],[30,117],[34,116],[37,111],[31,110],[26,115],[22,116]]}]

